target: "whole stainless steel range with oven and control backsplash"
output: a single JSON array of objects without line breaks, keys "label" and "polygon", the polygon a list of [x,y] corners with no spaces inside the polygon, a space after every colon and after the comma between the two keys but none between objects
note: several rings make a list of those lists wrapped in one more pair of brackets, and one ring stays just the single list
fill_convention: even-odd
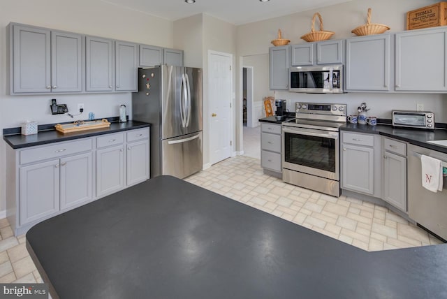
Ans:
[{"label": "whole stainless steel range with oven and control backsplash", "polygon": [[282,123],[282,180],[340,196],[339,127],[346,104],[295,103],[295,119]]}]

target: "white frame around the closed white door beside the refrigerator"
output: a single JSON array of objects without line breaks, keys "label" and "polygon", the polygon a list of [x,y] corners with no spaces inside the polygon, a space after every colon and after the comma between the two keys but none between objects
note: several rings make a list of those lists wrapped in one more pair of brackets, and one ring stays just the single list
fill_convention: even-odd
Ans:
[{"label": "white frame around the closed white door beside the refrigerator", "polygon": [[[219,52],[219,51],[214,51],[214,50],[208,50],[208,57],[207,57],[207,98],[208,101],[210,101],[211,96],[210,96],[210,78],[211,78],[211,68],[210,68],[210,59],[212,55],[219,55],[219,56],[224,56],[224,57],[228,57],[230,59],[230,68],[231,68],[231,75],[230,75],[230,89],[231,89],[231,99],[230,99],[230,115],[229,115],[229,126],[230,126],[230,141],[232,142],[231,146],[230,146],[230,156],[235,156],[235,133],[234,133],[234,124],[233,124],[233,119],[234,119],[234,110],[235,110],[235,89],[234,89],[234,74],[235,74],[235,68],[234,68],[234,64],[233,64],[233,54],[231,53],[226,53],[226,52]],[[208,107],[210,107],[210,105],[208,104]],[[242,109],[242,107],[241,107]],[[208,113],[209,114],[209,113]],[[210,129],[210,133],[211,132],[211,116],[208,115],[207,116],[207,123]],[[208,168],[209,166],[212,165],[212,161],[211,161],[211,138],[208,135],[207,138],[207,147],[208,147],[208,153],[209,153],[209,157],[208,157],[208,161],[209,163],[207,163],[207,167],[204,166],[204,169]],[[216,162],[218,163],[218,162]],[[209,166],[208,166],[209,165]],[[205,168],[206,167],[206,168]]]}]

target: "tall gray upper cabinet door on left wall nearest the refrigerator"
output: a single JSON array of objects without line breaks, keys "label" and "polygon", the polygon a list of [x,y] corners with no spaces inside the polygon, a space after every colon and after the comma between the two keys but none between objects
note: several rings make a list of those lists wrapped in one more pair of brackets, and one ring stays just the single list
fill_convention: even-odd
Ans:
[{"label": "tall gray upper cabinet door on left wall nearest the refrigerator", "polygon": [[115,91],[138,91],[138,45],[115,41]]}]

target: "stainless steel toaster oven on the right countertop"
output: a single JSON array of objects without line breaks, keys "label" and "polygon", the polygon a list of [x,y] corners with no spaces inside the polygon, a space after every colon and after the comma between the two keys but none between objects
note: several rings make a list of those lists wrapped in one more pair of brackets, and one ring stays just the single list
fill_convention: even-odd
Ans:
[{"label": "stainless steel toaster oven on the right countertop", "polygon": [[429,111],[393,110],[393,126],[434,129],[434,113]]}]

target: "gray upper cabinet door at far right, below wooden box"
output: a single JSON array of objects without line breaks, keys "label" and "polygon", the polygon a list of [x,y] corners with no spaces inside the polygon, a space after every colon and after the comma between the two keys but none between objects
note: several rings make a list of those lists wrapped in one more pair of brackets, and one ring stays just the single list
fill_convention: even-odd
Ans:
[{"label": "gray upper cabinet door at far right, below wooden box", "polygon": [[447,91],[446,34],[446,27],[396,34],[396,91]]}]

